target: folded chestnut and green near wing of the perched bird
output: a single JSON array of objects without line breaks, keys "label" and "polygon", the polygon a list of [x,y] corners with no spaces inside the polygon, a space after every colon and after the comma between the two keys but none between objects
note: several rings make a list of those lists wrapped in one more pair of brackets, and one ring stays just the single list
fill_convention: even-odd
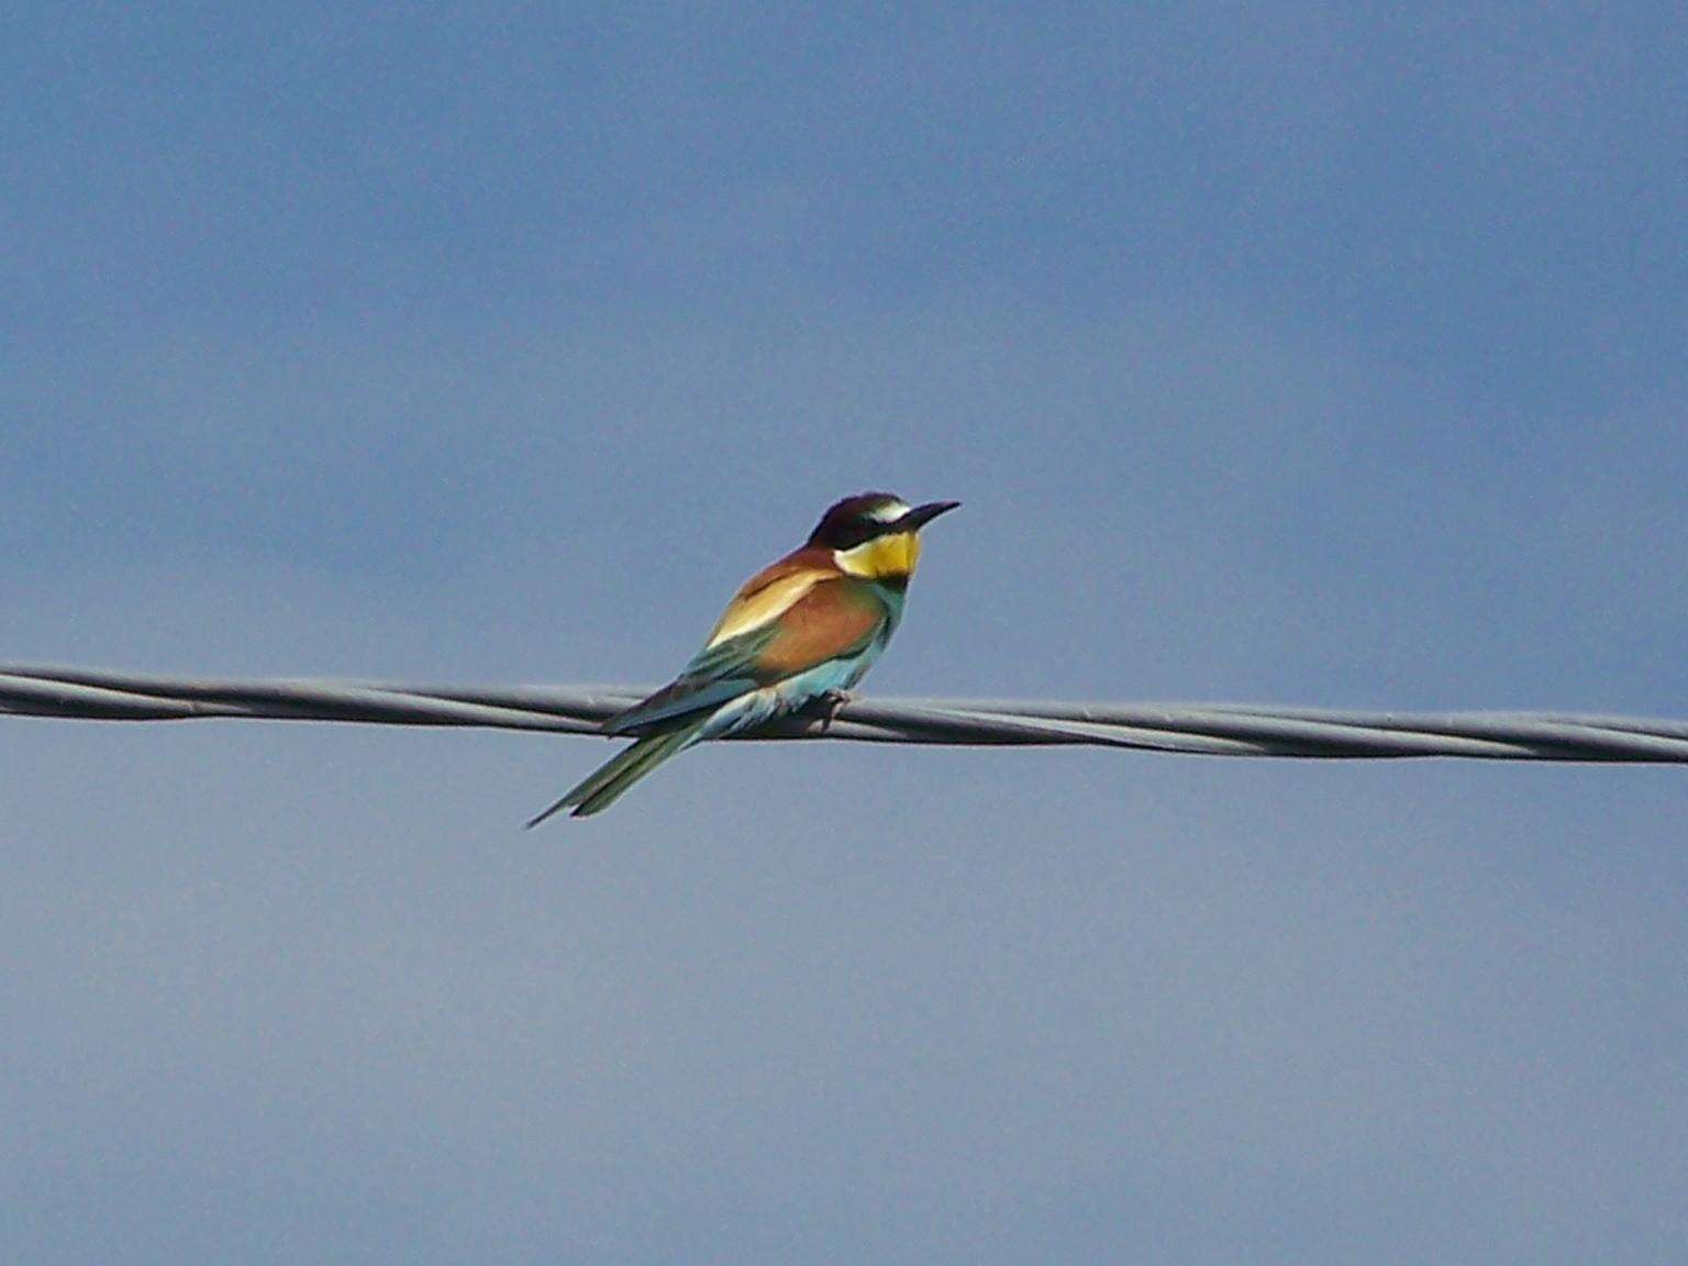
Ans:
[{"label": "folded chestnut and green near wing of the perched bird", "polygon": [[[890,611],[873,586],[830,572],[810,576],[783,609],[739,633],[731,631],[731,616],[733,608],[728,608],[717,633],[692,657],[685,672],[650,699],[606,721],[604,729],[626,734],[675,721],[827,660],[854,655],[879,636]],[[719,630],[729,631],[722,636]]]}]

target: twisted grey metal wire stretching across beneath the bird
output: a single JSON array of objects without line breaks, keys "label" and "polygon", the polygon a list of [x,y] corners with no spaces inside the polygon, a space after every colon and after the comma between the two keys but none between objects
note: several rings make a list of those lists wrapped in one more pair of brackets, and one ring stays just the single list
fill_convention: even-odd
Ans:
[{"label": "twisted grey metal wire stretching across beneath the bird", "polygon": [[[0,712],[93,721],[204,717],[488,726],[598,734],[648,690],[635,685],[398,685],[203,679],[0,665]],[[749,739],[1104,746],[1205,756],[1688,763],[1688,721],[1578,712],[1354,712],[1247,704],[858,699],[830,719],[793,716]]]}]

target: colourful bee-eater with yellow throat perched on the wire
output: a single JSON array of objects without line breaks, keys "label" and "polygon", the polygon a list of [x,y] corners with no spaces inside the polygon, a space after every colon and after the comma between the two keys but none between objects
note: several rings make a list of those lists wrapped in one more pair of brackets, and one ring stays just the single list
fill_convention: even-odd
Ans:
[{"label": "colourful bee-eater with yellow throat perched on the wire", "polygon": [[[663,761],[815,704],[849,697],[903,618],[920,530],[960,501],[891,493],[834,503],[800,547],[749,577],[680,675],[601,729],[626,748],[533,817],[601,814]],[[829,714],[830,716],[830,714]]]}]

